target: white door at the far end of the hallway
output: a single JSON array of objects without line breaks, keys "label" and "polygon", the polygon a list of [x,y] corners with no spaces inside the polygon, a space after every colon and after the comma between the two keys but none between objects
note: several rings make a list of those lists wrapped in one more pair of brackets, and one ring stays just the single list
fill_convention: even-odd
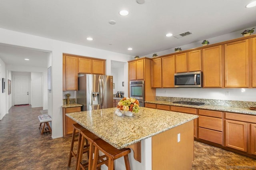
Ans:
[{"label": "white door at the far end of the hallway", "polygon": [[29,104],[29,76],[14,75],[14,105]]}]

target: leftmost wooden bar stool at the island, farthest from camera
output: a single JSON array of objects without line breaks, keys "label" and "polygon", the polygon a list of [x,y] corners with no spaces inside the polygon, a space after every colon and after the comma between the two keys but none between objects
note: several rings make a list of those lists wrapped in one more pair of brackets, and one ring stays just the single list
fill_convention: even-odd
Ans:
[{"label": "leftmost wooden bar stool at the island, farthest from camera", "polygon": [[[73,130],[73,134],[72,134],[72,141],[71,141],[71,146],[70,146],[70,152],[69,152],[69,159],[68,159],[68,166],[70,167],[71,164],[71,158],[74,157],[76,159],[76,166],[78,164],[78,152],[80,150],[80,142],[81,142],[81,134],[80,132],[82,130],[86,130],[86,128],[82,127],[81,125],[79,125],[78,123],[74,123],[72,124],[72,126],[74,127]],[[78,139],[75,139],[75,135],[78,132]],[[78,149],[77,152],[75,153],[73,148],[74,148],[74,142],[78,141]],[[86,145],[83,148],[83,153],[88,152],[89,151],[89,145],[88,145],[88,141],[86,141]]]}]

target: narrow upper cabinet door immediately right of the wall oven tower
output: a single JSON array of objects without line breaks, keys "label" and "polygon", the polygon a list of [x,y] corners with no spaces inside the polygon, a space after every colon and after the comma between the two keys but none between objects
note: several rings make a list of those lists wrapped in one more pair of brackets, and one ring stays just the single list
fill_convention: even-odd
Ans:
[{"label": "narrow upper cabinet door immediately right of the wall oven tower", "polygon": [[161,58],[152,59],[152,83],[151,87],[162,87],[162,62]]}]

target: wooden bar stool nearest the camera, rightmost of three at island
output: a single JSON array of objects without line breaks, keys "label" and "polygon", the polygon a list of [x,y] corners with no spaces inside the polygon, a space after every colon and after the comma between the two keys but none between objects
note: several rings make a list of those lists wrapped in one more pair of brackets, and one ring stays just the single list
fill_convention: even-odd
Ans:
[{"label": "wooden bar stool nearest the camera, rightmost of three at island", "polygon": [[[106,166],[108,166],[108,170],[114,170],[114,160],[121,158],[122,156],[124,156],[126,170],[131,169],[128,158],[128,154],[131,152],[129,148],[117,149],[102,139],[95,140],[93,145],[95,148],[92,170],[96,170],[96,168],[102,164],[106,164]],[[99,150],[105,155],[99,156]],[[104,156],[107,158],[106,160],[102,160],[102,157]]]}]

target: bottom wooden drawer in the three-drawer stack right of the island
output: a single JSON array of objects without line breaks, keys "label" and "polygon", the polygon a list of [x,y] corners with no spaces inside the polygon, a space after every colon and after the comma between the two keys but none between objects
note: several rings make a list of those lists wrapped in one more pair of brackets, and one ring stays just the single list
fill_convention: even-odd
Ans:
[{"label": "bottom wooden drawer in the three-drawer stack right of the island", "polygon": [[200,139],[208,140],[210,142],[222,144],[222,132],[210,130],[206,128],[199,128],[198,137]]}]

